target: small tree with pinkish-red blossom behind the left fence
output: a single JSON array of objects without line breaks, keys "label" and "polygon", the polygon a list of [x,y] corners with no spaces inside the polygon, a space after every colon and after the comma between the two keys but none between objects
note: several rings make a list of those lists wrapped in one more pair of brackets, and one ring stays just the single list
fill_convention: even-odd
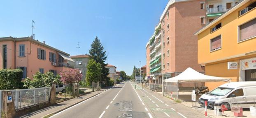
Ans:
[{"label": "small tree with pinkish-red blossom behind the left fence", "polygon": [[[61,81],[64,84],[72,85],[73,82],[79,82],[82,80],[82,73],[80,73],[79,69],[68,69],[65,71],[61,71]],[[87,76],[87,75],[86,75]]]}]

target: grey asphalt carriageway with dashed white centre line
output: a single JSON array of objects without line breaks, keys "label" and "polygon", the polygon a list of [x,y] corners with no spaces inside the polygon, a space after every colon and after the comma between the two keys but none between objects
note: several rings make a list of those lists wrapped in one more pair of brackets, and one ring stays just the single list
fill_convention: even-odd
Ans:
[{"label": "grey asphalt carriageway with dashed white centre line", "polygon": [[130,82],[85,100],[51,118],[152,118]]}]

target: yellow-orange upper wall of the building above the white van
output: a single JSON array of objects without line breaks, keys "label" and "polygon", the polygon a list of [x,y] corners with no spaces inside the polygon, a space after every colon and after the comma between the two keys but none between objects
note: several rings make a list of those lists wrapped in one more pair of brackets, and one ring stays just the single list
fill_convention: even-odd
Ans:
[{"label": "yellow-orange upper wall of the building above the white van", "polygon": [[[256,18],[256,8],[238,17],[239,11],[255,1],[256,0],[250,0],[247,4],[244,4],[219,21],[222,24],[220,29],[210,33],[210,29],[216,26],[216,24],[219,24],[219,22],[217,22],[212,25],[212,27],[198,34],[198,63],[207,63],[212,60],[256,51],[256,38],[239,43],[237,42],[237,27]],[[221,35],[221,49],[210,52],[210,40],[219,35]]]}]

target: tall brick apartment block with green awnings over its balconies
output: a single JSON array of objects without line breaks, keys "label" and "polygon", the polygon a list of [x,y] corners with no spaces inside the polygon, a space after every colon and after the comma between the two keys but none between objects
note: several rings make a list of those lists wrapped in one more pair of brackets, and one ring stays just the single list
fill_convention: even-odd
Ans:
[{"label": "tall brick apartment block with green awnings over its balconies", "polygon": [[205,0],[168,2],[149,40],[149,67],[153,82],[162,83],[162,72],[164,79],[167,79],[188,67],[204,73],[204,67],[197,62],[197,37],[193,36],[206,22],[206,9],[201,9],[201,3]]}]

